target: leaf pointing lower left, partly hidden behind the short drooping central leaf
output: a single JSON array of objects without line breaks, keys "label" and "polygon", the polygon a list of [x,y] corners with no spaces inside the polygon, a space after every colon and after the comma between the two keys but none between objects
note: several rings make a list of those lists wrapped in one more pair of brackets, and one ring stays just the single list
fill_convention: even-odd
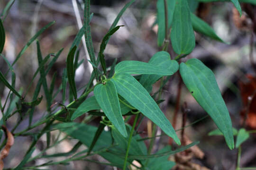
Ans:
[{"label": "leaf pointing lower left, partly hidden behind the short drooping central leaf", "polygon": [[[120,108],[122,115],[128,113],[131,108],[127,107],[125,104],[120,102]],[[91,96],[88,99],[86,99],[82,104],[74,111],[71,120],[78,118],[79,116],[82,116],[82,114],[90,111],[90,110],[99,110],[101,109],[101,106],[96,101],[95,96]]]}]

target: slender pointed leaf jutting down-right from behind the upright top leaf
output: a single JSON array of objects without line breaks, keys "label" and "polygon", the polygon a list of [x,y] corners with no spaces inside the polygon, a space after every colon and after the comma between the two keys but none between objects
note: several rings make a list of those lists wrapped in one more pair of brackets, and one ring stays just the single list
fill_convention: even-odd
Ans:
[{"label": "slender pointed leaf jutting down-right from behind the upright top leaf", "polygon": [[[197,17],[193,13],[190,14],[193,29],[201,34],[209,36],[210,38],[217,40],[219,42],[224,42],[219,36],[215,33],[215,31],[201,18]],[[224,42],[225,43],[225,42]]]}]

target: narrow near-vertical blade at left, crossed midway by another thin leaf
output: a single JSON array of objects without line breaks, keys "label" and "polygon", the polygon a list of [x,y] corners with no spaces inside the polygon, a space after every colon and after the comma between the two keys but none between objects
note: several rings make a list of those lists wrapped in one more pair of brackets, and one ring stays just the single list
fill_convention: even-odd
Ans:
[{"label": "narrow near-vertical blade at left, crossed midway by another thin leaf", "polygon": [[[41,53],[41,50],[40,50],[40,44],[39,44],[38,41],[37,41],[37,59],[38,59],[39,67],[40,67],[41,63],[42,63],[42,65],[44,65],[44,62],[43,62],[44,60],[42,58],[42,53]],[[46,72],[45,72],[44,67],[42,67],[39,71],[40,71],[40,79],[42,81],[42,85],[43,85],[45,95],[46,95],[47,110],[50,110],[52,99],[51,99],[51,95],[49,93],[47,82],[46,82]]]}]

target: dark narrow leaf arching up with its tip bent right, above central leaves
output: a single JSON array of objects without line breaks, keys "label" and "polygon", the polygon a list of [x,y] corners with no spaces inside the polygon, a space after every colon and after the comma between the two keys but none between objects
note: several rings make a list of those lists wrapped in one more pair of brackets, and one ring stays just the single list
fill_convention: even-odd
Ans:
[{"label": "dark narrow leaf arching up with its tip bent right, above central leaves", "polygon": [[98,58],[100,58],[100,61],[101,61],[101,67],[104,71],[104,73],[106,74],[107,73],[107,68],[106,68],[106,62],[105,62],[105,59],[104,59],[104,50],[106,49],[106,46],[107,46],[107,43],[110,39],[110,36],[113,35],[117,30],[119,30],[121,26],[116,26],[115,28],[111,29],[104,37],[103,37],[103,40],[101,42],[101,47],[100,47],[100,52],[99,52],[99,56]]}]

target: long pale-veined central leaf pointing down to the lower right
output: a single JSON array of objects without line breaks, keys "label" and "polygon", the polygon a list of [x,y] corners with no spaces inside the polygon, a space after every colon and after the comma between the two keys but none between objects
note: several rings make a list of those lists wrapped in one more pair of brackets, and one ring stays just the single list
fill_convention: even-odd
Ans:
[{"label": "long pale-veined central leaf pointing down to the lower right", "polygon": [[180,140],[165,114],[159,109],[146,89],[133,76],[125,73],[116,74],[111,81],[116,85],[117,92],[127,102],[151,119],[168,136],[174,138],[177,144],[180,144]]}]

